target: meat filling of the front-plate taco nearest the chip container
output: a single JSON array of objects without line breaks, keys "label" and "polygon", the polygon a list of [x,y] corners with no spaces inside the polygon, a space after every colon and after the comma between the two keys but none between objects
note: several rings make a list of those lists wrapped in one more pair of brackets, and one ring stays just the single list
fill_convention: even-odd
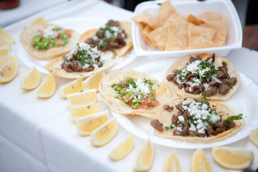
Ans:
[{"label": "meat filling of the front-plate taco nearest the chip container", "polygon": [[167,76],[167,80],[179,84],[178,88],[187,93],[206,93],[206,96],[210,96],[218,92],[224,95],[236,84],[236,77],[230,77],[226,62],[223,61],[223,66],[217,67],[212,64],[214,60],[214,53],[206,60],[191,56],[186,67],[175,69],[174,74]]}]

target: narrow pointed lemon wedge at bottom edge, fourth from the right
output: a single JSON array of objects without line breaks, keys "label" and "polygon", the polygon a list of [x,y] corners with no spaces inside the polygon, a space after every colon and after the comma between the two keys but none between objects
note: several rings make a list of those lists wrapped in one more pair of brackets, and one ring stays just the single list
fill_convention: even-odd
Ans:
[{"label": "narrow pointed lemon wedge at bottom edge, fourth from the right", "polygon": [[175,149],[173,153],[166,158],[163,172],[180,172],[179,160],[175,154]]}]

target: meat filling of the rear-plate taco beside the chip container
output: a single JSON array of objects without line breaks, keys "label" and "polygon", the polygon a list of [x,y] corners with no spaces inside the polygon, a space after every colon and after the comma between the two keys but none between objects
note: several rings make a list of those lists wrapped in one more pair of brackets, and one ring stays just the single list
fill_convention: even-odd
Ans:
[{"label": "meat filling of the rear-plate taco beside the chip container", "polygon": [[93,36],[85,41],[92,48],[97,46],[98,50],[111,50],[121,48],[126,45],[126,33],[119,27],[118,21],[109,20]]}]

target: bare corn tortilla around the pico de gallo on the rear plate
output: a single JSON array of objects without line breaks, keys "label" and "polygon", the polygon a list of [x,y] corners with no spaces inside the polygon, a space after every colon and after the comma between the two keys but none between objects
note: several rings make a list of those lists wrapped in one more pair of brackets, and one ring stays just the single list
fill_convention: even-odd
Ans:
[{"label": "bare corn tortilla around the pico de gallo on the rear plate", "polygon": [[44,29],[44,26],[46,25],[48,24],[32,24],[31,26],[28,26],[26,29],[24,29],[19,37],[22,46],[32,57],[36,59],[51,59],[60,54],[69,52],[70,49],[73,47],[73,44],[75,42],[78,42],[79,40],[80,34],[78,32],[75,32],[74,30],[69,30],[71,32],[71,38],[69,38],[69,42],[64,46],[51,47],[47,50],[37,50],[34,46],[32,46],[33,37],[36,35],[36,32]]}]

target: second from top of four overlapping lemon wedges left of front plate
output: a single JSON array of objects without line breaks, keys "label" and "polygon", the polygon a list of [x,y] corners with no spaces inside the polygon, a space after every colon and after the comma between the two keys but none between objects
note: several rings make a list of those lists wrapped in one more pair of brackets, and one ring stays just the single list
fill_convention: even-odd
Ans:
[{"label": "second from top of four overlapping lemon wedges left of front plate", "polygon": [[97,112],[100,112],[99,103],[87,104],[87,105],[78,106],[78,107],[71,107],[70,118],[72,121],[75,122],[78,118],[95,114]]}]

